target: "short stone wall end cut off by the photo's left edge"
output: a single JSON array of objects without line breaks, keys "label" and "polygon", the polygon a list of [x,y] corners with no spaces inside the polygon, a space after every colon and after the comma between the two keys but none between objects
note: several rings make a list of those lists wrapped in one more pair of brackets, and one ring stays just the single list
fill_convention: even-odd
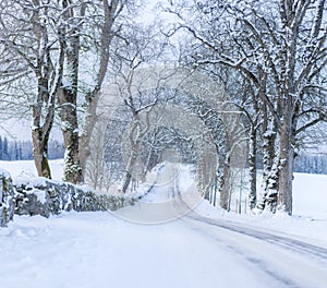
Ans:
[{"label": "short stone wall end cut off by the photo's left edge", "polygon": [[14,213],[14,191],[11,176],[0,169],[0,227],[12,220]]}]

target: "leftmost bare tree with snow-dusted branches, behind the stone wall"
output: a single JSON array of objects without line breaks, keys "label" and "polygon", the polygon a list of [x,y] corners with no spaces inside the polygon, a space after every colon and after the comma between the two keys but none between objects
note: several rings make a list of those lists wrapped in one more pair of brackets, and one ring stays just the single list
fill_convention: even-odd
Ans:
[{"label": "leftmost bare tree with snow-dusted branches, behind the stone wall", "polygon": [[7,67],[1,71],[1,84],[11,93],[10,86],[31,80],[36,83],[28,95],[34,160],[38,175],[51,178],[48,141],[62,79],[63,47],[58,43],[60,14],[48,2],[1,2],[1,61]]}]

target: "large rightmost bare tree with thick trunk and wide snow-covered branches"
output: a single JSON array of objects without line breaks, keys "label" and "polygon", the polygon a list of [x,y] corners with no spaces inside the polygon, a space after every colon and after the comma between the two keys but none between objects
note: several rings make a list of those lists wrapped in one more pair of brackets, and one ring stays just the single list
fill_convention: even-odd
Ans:
[{"label": "large rightmost bare tree with thick trunk and wide snow-covered branches", "polygon": [[326,106],[322,106],[326,87],[319,81],[327,57],[326,2],[194,2],[196,25],[185,16],[183,5],[174,2],[169,10],[179,17],[180,28],[213,51],[207,62],[240,71],[256,91],[266,79],[264,93],[257,95],[269,111],[264,116],[274,119],[272,131],[278,134],[272,169],[277,204],[291,214],[296,135],[326,119]]}]

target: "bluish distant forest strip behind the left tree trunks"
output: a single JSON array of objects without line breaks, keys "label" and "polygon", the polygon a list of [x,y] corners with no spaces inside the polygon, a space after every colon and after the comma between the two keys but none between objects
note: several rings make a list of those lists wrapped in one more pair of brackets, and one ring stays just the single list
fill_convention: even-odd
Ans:
[{"label": "bluish distant forest strip behind the left tree trunks", "polygon": [[[63,158],[64,146],[59,141],[49,142],[48,156],[49,159]],[[33,144],[32,141],[15,141],[9,140],[5,136],[0,136],[0,160],[32,160]]]}]

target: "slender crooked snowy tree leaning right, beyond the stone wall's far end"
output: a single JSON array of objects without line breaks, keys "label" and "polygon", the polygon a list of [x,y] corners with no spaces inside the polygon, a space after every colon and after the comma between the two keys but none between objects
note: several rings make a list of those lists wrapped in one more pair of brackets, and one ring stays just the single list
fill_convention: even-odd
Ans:
[{"label": "slender crooked snowy tree leaning right, beyond the stone wall's far end", "polygon": [[[143,87],[142,80],[136,79],[135,81],[135,74],[140,75],[138,70],[142,70],[144,64],[159,60],[165,52],[166,39],[155,26],[150,25],[149,27],[131,27],[123,41],[114,50],[112,70],[116,70],[120,96],[132,116],[128,141],[130,156],[126,159],[125,175],[122,180],[122,192],[125,193],[136,163],[141,161],[142,143],[153,124],[149,123],[147,113],[152,111],[160,97],[160,80],[152,83],[150,87]],[[148,81],[150,77],[148,72],[144,74],[144,81]],[[165,80],[162,79],[162,81]],[[150,91],[146,91],[148,88]],[[137,172],[141,173],[141,177],[145,177],[142,175],[144,169],[141,168]]]}]

